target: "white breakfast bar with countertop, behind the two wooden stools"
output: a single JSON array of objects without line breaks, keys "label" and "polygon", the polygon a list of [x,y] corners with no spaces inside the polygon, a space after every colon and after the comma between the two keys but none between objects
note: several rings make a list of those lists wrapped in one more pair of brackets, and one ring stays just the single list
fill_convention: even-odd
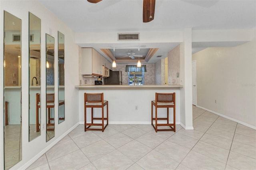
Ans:
[{"label": "white breakfast bar with countertop, behind the two wooden stools", "polygon": [[[87,85],[75,88],[79,91],[80,124],[84,124],[84,93],[104,93],[104,100],[108,100],[109,124],[151,124],[151,101],[155,100],[156,92],[176,93],[176,124],[180,124],[180,89],[183,85]],[[170,109],[170,115],[172,112]],[[94,114],[100,116],[101,109],[94,108]],[[158,115],[165,117],[166,108],[160,108]],[[87,114],[87,120],[91,120],[90,114]],[[169,121],[173,122],[172,116]]]}]

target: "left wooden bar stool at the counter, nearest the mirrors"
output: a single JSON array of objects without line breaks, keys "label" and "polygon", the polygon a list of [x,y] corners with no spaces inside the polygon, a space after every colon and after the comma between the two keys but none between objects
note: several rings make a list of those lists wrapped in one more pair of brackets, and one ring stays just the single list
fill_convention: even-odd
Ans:
[{"label": "left wooden bar stool at the counter, nearest the mirrors", "polygon": [[[107,105],[107,116],[104,118],[104,106]],[[86,108],[92,108],[92,123],[86,122]],[[101,108],[101,118],[93,117],[93,108]],[[93,120],[102,120],[101,123],[93,123]],[[104,120],[107,120],[106,126],[104,126]],[[88,127],[87,127],[88,126]],[[90,128],[91,126],[101,126],[101,128]],[[108,101],[104,100],[103,93],[84,93],[84,132],[86,130],[102,130],[108,126]]]}]

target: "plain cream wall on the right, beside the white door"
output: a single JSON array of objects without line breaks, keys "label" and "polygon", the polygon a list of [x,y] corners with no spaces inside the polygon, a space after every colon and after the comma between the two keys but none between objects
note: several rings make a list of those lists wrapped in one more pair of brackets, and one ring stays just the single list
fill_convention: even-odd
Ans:
[{"label": "plain cream wall on the right, beside the white door", "polygon": [[207,48],[192,55],[198,106],[256,128],[255,47],[254,36],[239,46]]}]

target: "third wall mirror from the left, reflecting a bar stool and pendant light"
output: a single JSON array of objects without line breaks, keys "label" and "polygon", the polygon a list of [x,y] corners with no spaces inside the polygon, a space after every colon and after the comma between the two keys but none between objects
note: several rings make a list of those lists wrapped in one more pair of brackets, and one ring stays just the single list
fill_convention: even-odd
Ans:
[{"label": "third wall mirror from the left, reflecting a bar stool and pendant light", "polygon": [[54,137],[54,38],[46,34],[46,142]]}]

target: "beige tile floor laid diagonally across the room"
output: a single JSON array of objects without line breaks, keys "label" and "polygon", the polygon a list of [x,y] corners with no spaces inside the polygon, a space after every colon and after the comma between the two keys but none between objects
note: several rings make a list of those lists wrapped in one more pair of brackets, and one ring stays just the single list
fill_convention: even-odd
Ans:
[{"label": "beige tile floor laid diagonally across the room", "polygon": [[193,106],[194,130],[77,126],[27,170],[255,170],[256,130]]}]

